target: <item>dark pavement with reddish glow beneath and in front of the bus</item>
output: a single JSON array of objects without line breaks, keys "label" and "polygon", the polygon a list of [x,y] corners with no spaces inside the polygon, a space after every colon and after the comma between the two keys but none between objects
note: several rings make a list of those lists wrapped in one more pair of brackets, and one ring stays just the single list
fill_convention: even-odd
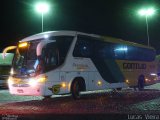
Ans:
[{"label": "dark pavement with reddish glow beneath and in front of the bus", "polygon": [[[68,115],[71,115],[72,119],[76,119],[77,115],[82,119],[99,119],[104,115],[102,119],[120,117],[125,120],[136,119],[137,114],[140,115],[139,119],[160,119],[159,113],[160,83],[146,86],[143,91],[126,88],[120,92],[88,92],[80,100],[74,100],[70,95],[52,96],[51,99],[15,96],[7,89],[0,90],[0,115],[4,120],[51,119],[53,116],[61,119],[61,116]],[[81,115],[85,115],[85,118]]]}]

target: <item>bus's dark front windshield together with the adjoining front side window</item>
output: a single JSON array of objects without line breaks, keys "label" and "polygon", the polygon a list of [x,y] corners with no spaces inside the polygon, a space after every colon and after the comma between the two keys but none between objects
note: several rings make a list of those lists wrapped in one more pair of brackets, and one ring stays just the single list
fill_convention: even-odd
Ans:
[{"label": "bus's dark front windshield together with the adjoining front side window", "polygon": [[[73,37],[54,36],[44,46],[44,39],[33,40],[18,45],[13,60],[13,71],[15,75],[34,75],[48,72],[60,66],[66,57]],[[24,44],[24,45],[23,45]],[[25,45],[26,44],[26,45]],[[41,47],[41,54],[37,55],[37,47]]]}]

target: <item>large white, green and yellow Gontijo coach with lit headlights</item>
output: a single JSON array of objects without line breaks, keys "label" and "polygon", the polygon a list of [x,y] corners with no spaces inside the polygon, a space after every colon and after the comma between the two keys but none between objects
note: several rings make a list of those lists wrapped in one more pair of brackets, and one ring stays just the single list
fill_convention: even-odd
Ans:
[{"label": "large white, green and yellow Gontijo coach with lit headlights", "polygon": [[83,91],[121,90],[157,80],[155,49],[77,31],[49,31],[19,41],[8,79],[15,95],[50,97]]}]

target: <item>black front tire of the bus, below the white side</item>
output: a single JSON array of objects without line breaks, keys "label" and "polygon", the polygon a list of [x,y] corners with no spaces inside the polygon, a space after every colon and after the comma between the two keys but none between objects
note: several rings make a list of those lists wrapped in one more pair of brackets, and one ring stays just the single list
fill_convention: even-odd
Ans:
[{"label": "black front tire of the bus, below the white side", "polygon": [[72,82],[71,93],[72,93],[72,97],[75,100],[80,99],[81,98],[80,92],[85,90],[86,90],[86,86],[83,79],[77,78]]}]

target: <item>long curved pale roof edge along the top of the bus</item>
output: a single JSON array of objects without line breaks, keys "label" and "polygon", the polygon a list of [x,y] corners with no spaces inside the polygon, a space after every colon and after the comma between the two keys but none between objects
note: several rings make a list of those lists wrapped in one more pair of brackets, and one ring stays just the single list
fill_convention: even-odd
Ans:
[{"label": "long curved pale roof edge along the top of the bus", "polygon": [[32,36],[26,37],[26,38],[22,39],[20,42],[37,40],[37,39],[41,39],[41,38],[47,38],[49,36],[59,36],[59,35],[76,36],[76,34],[101,38],[104,41],[112,42],[112,43],[122,43],[122,44],[126,44],[126,45],[131,45],[131,46],[154,49],[153,47],[149,47],[149,46],[134,43],[134,42],[125,41],[125,40],[114,38],[114,37],[101,36],[101,35],[96,35],[96,34],[88,34],[88,33],[83,33],[83,32],[78,32],[78,31],[69,31],[69,30],[66,30],[66,31],[65,30],[62,30],[62,31],[47,31],[47,32],[43,32],[43,33],[39,33],[39,34],[35,34],[35,35],[32,35]]}]

